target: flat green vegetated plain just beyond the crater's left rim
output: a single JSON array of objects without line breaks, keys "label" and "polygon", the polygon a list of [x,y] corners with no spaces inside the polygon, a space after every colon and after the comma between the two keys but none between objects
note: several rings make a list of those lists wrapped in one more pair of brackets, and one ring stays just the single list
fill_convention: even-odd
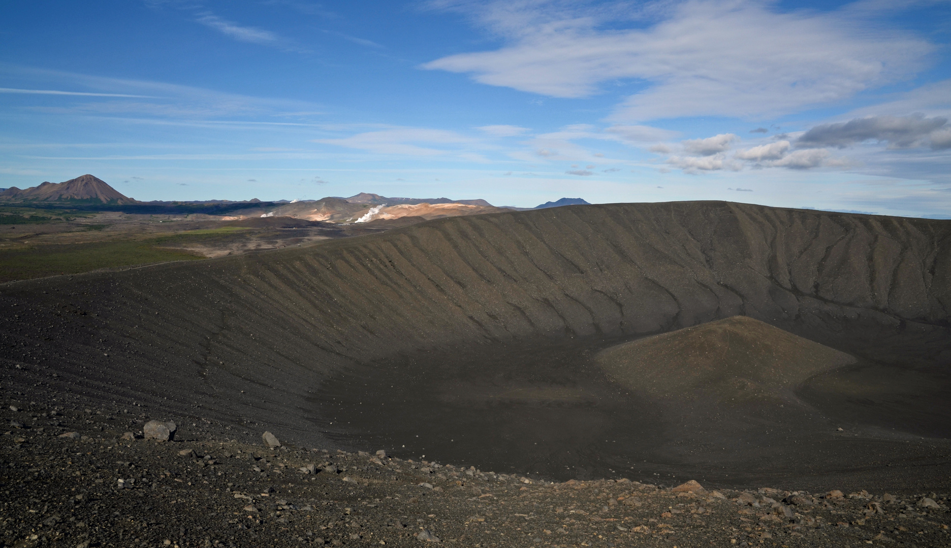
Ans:
[{"label": "flat green vegetated plain just beyond the crater's left rim", "polygon": [[0,283],[56,274],[79,274],[103,268],[204,258],[156,247],[154,240],[51,244],[0,250]]}]

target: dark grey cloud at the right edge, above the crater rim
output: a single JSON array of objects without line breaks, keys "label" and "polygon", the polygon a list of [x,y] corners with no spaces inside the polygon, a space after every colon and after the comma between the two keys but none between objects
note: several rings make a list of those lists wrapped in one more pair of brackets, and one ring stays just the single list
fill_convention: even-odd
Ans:
[{"label": "dark grey cloud at the right edge, above the crater rim", "polygon": [[[848,122],[824,123],[808,130],[798,140],[800,147],[847,146],[866,141],[888,142],[889,148],[911,148],[927,143],[941,149],[943,132],[947,129],[946,118],[925,118],[923,114],[911,116],[868,116]],[[931,136],[937,133],[937,140]]]}]

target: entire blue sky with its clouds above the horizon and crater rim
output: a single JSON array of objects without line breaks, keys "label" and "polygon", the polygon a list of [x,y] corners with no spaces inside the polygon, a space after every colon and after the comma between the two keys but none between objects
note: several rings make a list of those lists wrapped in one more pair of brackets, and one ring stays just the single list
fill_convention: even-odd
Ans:
[{"label": "entire blue sky with its clouds above the horizon and crater rim", "polygon": [[[899,5],[900,4],[900,5]],[[10,3],[0,187],[951,217],[951,2]]]}]

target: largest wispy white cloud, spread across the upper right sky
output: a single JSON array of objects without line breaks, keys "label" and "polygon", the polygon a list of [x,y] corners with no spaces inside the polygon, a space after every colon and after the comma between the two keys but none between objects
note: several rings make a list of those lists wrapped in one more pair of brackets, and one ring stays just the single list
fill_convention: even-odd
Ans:
[{"label": "largest wispy white cloud, spread across the upper right sky", "polygon": [[[460,53],[424,68],[482,84],[585,97],[608,81],[647,87],[619,121],[692,115],[766,116],[828,104],[914,73],[933,47],[897,30],[864,31],[848,10],[780,11],[755,0],[687,0],[634,11],[556,0],[463,4],[504,47]],[[657,15],[652,25],[643,17]],[[627,25],[631,19],[637,28]]]}]

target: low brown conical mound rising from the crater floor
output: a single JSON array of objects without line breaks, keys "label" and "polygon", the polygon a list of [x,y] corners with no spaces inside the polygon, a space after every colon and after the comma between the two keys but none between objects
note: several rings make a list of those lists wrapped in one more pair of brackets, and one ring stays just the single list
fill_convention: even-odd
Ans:
[{"label": "low brown conical mound rising from the crater floor", "polygon": [[601,350],[601,368],[633,390],[661,397],[713,393],[769,398],[856,359],[747,316],[732,316]]}]

